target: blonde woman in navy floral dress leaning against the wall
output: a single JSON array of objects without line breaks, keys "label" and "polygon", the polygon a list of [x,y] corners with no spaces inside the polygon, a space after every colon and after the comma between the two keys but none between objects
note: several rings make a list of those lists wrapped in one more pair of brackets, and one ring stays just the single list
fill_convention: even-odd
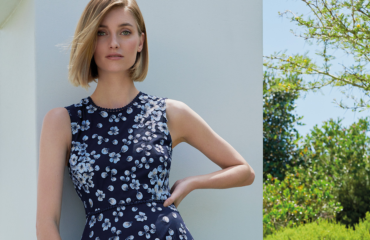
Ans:
[{"label": "blonde woman in navy floral dress leaning against the wall", "polygon": [[[60,239],[64,166],[87,216],[82,239],[192,239],[176,207],[194,189],[249,185],[248,163],[179,101],[139,92],[146,31],[134,0],[92,0],[72,43],[70,80],[90,97],[49,111],[40,138],[38,239]],[[172,149],[186,142],[222,170],[168,186]],[[171,194],[170,194],[171,193]]]}]

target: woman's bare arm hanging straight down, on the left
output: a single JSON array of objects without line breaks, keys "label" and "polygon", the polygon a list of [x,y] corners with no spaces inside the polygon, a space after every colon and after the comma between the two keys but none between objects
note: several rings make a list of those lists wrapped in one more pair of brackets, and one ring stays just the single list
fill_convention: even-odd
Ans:
[{"label": "woman's bare arm hanging straight down, on the left", "polygon": [[71,138],[71,121],[67,109],[58,107],[50,110],[44,117],[40,136],[36,215],[38,240],[61,239],[59,221],[63,177]]}]

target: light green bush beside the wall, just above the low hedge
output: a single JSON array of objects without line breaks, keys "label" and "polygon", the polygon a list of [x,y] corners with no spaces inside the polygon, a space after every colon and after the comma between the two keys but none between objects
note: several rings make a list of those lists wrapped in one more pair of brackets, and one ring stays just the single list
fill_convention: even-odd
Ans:
[{"label": "light green bush beside the wall, just above the low hedge", "polygon": [[340,210],[329,180],[315,180],[304,169],[295,171],[282,181],[268,175],[263,183],[263,236],[281,227],[333,217]]}]

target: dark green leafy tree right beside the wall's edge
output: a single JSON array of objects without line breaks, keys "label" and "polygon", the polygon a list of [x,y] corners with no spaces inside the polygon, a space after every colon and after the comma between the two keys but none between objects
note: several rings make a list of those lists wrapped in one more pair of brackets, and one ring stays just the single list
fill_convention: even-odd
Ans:
[{"label": "dark green leafy tree right beside the wall's edge", "polygon": [[301,118],[292,111],[298,95],[289,91],[271,92],[278,85],[273,73],[265,72],[263,81],[263,178],[267,174],[283,179],[286,166],[296,159],[299,135],[294,124]]}]

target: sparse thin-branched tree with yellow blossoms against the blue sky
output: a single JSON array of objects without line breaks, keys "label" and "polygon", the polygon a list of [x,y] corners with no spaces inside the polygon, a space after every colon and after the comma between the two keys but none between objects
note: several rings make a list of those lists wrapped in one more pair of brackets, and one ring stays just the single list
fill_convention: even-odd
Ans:
[{"label": "sparse thin-branched tree with yellow blossoms against the blue sky", "polygon": [[[264,65],[276,69],[282,79],[282,85],[289,86],[289,91],[317,90],[323,86],[346,86],[363,92],[360,98],[346,95],[353,99],[353,106],[335,101],[340,107],[352,110],[370,109],[370,1],[369,0],[301,0],[310,8],[309,16],[294,14],[287,10],[279,13],[298,26],[303,33],[293,34],[302,37],[307,43],[317,46],[316,54],[322,63],[316,63],[307,53],[288,56],[277,52],[264,56]],[[342,70],[331,69],[336,60],[334,54],[347,54],[350,61],[342,64]],[[290,74],[302,78],[288,78]],[[313,77],[315,76],[315,80]],[[307,80],[307,79],[308,80]],[[285,87],[274,86],[273,91],[283,91]],[[343,92],[344,93],[344,92]]]}]

